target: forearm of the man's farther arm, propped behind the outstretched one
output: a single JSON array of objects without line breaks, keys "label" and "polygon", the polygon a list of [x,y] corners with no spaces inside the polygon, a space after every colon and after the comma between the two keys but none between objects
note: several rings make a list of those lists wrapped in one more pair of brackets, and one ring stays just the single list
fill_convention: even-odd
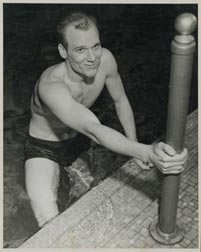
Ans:
[{"label": "forearm of the man's farther arm, propped behind the outstretched one", "polygon": [[115,109],[126,136],[133,141],[137,141],[135,119],[128,99],[115,103]]}]

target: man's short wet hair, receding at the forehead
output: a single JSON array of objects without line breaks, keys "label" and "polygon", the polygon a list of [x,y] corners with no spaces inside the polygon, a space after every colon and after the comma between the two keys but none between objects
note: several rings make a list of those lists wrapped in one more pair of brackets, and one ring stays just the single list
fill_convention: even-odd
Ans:
[{"label": "man's short wet hair, receding at the forehead", "polygon": [[93,16],[88,16],[85,13],[74,12],[64,16],[57,25],[57,40],[58,43],[61,43],[66,49],[68,43],[64,37],[64,32],[69,25],[73,25],[75,29],[82,31],[88,30],[91,25],[94,25],[97,28],[95,18]]}]

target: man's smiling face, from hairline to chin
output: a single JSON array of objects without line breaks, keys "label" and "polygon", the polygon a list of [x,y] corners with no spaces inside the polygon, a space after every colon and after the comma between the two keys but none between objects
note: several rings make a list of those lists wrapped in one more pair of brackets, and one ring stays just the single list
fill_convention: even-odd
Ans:
[{"label": "man's smiling face, from hairline to chin", "polygon": [[83,31],[69,26],[65,39],[68,43],[67,59],[72,70],[86,77],[94,77],[102,55],[97,28],[92,24]]}]

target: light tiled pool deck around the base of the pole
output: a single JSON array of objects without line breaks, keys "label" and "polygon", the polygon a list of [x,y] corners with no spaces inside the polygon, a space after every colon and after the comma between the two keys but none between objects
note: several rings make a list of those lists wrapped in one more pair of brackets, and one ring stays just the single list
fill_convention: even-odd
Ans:
[{"label": "light tiled pool deck around the base of the pole", "polygon": [[152,239],[149,225],[158,216],[162,176],[141,171],[133,159],[91,189],[19,248],[199,248],[198,119],[188,117],[185,146],[189,159],[181,175],[177,221],[185,235],[175,245]]}]

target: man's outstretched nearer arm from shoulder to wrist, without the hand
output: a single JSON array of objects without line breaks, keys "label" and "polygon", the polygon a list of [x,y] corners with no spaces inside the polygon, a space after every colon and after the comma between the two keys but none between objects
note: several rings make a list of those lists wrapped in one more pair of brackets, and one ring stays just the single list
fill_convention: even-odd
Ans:
[{"label": "man's outstretched nearer arm from shoulder to wrist, without the hand", "polygon": [[64,84],[41,82],[39,94],[49,110],[66,126],[114,152],[145,161],[149,159],[150,146],[135,143],[121,133],[102,125],[88,108],[71,97]]}]

